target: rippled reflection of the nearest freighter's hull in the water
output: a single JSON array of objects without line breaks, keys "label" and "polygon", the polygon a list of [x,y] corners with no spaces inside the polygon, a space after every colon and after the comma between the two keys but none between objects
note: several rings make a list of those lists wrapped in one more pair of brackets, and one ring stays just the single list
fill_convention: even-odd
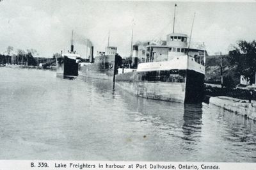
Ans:
[{"label": "rippled reflection of the nearest freighter's hull in the water", "polygon": [[[187,144],[196,144],[202,128],[202,104],[180,104],[150,100],[118,91],[129,109],[131,121],[152,124],[163,135],[184,139]],[[169,108],[169,109],[168,109]]]}]

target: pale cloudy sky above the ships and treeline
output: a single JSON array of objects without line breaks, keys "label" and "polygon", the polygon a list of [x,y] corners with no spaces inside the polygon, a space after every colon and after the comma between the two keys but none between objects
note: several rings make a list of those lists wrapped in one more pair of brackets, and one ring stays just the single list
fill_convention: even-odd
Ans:
[{"label": "pale cloudy sky above the ships and treeline", "polygon": [[36,49],[39,57],[74,48],[86,57],[90,44],[96,51],[108,45],[129,56],[133,43],[165,40],[172,33],[177,3],[175,33],[190,35],[192,42],[205,43],[208,54],[227,54],[239,40],[256,39],[256,1],[86,1],[86,0],[3,0],[0,2],[0,53],[10,45]]}]

